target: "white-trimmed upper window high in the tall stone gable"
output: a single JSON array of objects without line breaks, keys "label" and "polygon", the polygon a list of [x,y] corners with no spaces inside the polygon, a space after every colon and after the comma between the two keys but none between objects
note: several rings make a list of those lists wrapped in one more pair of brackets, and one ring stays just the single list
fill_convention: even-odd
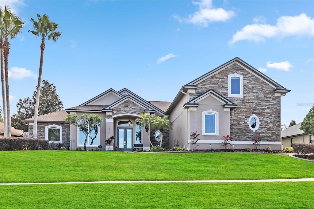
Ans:
[{"label": "white-trimmed upper window high in the tall stone gable", "polygon": [[243,76],[237,73],[228,75],[228,97],[243,98]]}]

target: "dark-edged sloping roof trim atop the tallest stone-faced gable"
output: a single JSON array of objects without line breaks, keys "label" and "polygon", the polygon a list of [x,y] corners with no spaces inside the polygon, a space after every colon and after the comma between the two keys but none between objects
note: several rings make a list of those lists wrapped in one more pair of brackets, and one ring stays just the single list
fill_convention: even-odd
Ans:
[{"label": "dark-edged sloping roof trim atop the tallest stone-faced gable", "polygon": [[248,70],[254,72],[255,74],[257,74],[258,76],[262,77],[264,80],[266,80],[268,83],[272,84],[273,86],[275,86],[275,88],[278,89],[282,89],[282,90],[287,90],[287,92],[290,92],[290,90],[284,88],[282,85],[280,85],[279,83],[277,83],[276,81],[274,81],[273,79],[269,78],[267,75],[265,75],[264,73],[258,71],[257,69],[255,69],[254,67],[252,67],[251,65],[249,65],[248,63],[244,62],[243,60],[241,60],[239,57],[235,57],[232,60],[220,65],[219,67],[216,67],[214,70],[209,71],[208,73],[205,73],[204,75],[196,78],[195,80],[191,81],[190,83],[188,83],[187,85],[193,85],[199,81],[201,81],[202,79],[206,78],[207,76],[214,74],[215,72],[219,71],[220,69],[226,67],[227,65],[231,64],[232,62],[238,62],[239,64],[243,65],[244,67],[246,67]]}]

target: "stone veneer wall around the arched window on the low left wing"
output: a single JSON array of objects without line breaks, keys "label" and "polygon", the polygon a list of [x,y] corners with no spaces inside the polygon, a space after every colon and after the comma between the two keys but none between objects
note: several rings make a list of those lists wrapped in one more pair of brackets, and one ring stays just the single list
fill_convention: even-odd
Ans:
[{"label": "stone veneer wall around the arched window on the low left wing", "polygon": [[[37,124],[37,137],[39,139],[46,139],[46,126],[57,125],[62,126],[62,144],[65,148],[70,146],[70,124],[68,123],[38,123]],[[33,137],[33,126],[29,126],[29,135]]]}]

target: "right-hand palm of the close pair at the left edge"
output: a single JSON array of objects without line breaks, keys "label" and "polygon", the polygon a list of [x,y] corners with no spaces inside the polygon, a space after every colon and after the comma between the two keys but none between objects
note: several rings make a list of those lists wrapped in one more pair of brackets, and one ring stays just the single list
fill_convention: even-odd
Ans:
[{"label": "right-hand palm of the close pair at the left edge", "polygon": [[[9,76],[8,76],[8,57],[9,57],[9,50],[10,50],[10,43],[9,37],[13,40],[19,33],[22,32],[23,24],[25,22],[17,15],[15,15],[7,5],[4,7],[4,11],[1,10],[1,22],[0,22],[0,29],[1,29],[1,42],[3,41],[3,46],[1,50],[3,50],[4,56],[4,76],[5,76],[5,95],[6,101],[3,99],[3,113],[7,115],[5,118],[4,124],[7,121],[7,136],[11,137],[11,115],[10,115],[10,98],[9,98]],[[3,60],[2,60],[2,51],[1,51],[1,84],[2,92],[4,93],[4,83],[3,83]],[[2,94],[3,94],[2,93]],[[5,101],[5,103],[4,103]]]}]

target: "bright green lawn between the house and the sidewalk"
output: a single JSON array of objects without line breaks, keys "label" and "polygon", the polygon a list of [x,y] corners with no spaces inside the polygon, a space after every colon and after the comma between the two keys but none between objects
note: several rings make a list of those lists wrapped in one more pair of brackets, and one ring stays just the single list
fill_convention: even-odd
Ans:
[{"label": "bright green lawn between the house and the sidewalk", "polygon": [[0,153],[1,183],[314,178],[314,163],[258,153]]}]

